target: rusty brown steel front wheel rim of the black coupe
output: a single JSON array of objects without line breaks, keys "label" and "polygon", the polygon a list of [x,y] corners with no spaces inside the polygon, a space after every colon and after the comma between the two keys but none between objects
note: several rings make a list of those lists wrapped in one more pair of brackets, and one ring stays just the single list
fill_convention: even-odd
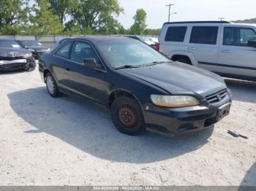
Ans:
[{"label": "rusty brown steel front wheel rim of the black coupe", "polygon": [[138,114],[132,106],[121,105],[117,110],[117,117],[119,122],[125,126],[125,128],[135,128],[138,125]]}]

